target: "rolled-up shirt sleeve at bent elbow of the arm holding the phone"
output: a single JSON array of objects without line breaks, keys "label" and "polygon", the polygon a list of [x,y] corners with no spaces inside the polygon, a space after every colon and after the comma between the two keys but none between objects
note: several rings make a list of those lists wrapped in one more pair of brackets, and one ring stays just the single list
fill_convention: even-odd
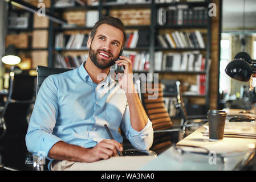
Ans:
[{"label": "rolled-up shirt sleeve at bent elbow of the arm holding the phone", "polygon": [[136,131],[131,126],[129,106],[125,107],[123,118],[121,121],[121,129],[125,136],[132,143],[133,147],[139,150],[148,150],[153,143],[153,127],[152,122],[148,118],[147,125],[141,131]]}]

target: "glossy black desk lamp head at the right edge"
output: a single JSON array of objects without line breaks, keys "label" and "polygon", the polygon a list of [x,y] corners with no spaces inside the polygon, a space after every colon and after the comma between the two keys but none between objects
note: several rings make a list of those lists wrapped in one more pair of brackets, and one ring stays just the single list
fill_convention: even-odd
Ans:
[{"label": "glossy black desk lamp head at the right edge", "polygon": [[239,52],[235,55],[234,60],[227,64],[225,72],[235,80],[247,82],[255,77],[256,60],[252,60],[246,52]]}]

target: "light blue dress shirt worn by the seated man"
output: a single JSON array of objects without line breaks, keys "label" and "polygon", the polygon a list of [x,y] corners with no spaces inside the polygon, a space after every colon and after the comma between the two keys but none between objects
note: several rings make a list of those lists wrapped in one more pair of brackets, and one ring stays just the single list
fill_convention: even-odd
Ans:
[{"label": "light blue dress shirt worn by the seated man", "polygon": [[51,147],[60,140],[94,147],[101,140],[110,139],[104,128],[107,124],[117,142],[123,142],[118,131],[121,126],[135,148],[147,150],[153,142],[151,121],[148,119],[143,130],[134,130],[124,90],[110,75],[95,84],[84,68],[85,63],[44,80],[30,118],[27,149],[48,158]]}]

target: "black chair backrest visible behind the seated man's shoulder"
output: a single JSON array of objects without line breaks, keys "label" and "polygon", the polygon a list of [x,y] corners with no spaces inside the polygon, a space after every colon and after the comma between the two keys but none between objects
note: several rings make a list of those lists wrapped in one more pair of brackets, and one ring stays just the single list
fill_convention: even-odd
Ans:
[{"label": "black chair backrest visible behind the seated man's shoulder", "polygon": [[54,74],[71,71],[71,70],[72,68],[51,68],[51,67],[37,66],[36,71],[38,72],[38,76],[36,80],[36,94],[38,93],[40,86],[42,85],[46,77]]}]

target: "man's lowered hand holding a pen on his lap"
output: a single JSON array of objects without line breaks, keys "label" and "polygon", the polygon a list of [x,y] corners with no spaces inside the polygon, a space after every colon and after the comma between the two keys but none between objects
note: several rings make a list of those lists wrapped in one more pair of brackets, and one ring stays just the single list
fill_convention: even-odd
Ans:
[{"label": "man's lowered hand holding a pen on his lap", "polygon": [[116,140],[101,140],[94,148],[88,149],[88,154],[85,156],[84,162],[90,163],[100,159],[108,159],[111,156],[116,156],[117,150],[123,151],[123,147]]}]

